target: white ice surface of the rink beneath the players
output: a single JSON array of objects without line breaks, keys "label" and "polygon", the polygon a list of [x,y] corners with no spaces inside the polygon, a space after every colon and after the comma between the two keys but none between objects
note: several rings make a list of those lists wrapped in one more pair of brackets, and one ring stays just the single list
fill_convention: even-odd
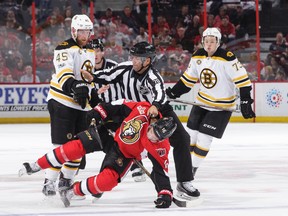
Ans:
[{"label": "white ice surface of the rink beneath the players", "polygon": [[[18,177],[23,162],[33,162],[52,149],[49,124],[0,124],[0,134],[1,216],[288,215],[288,124],[230,123],[223,138],[214,139],[194,180],[202,204],[192,208],[172,204],[169,209],[154,207],[156,193],[148,177],[146,182],[136,183],[130,173],[97,203],[86,196],[65,208],[58,194],[53,199],[42,195],[43,171]],[[87,168],[76,180],[97,174],[103,156],[102,152],[87,155]],[[151,170],[149,159],[143,162]],[[175,189],[171,154],[169,169]]]}]

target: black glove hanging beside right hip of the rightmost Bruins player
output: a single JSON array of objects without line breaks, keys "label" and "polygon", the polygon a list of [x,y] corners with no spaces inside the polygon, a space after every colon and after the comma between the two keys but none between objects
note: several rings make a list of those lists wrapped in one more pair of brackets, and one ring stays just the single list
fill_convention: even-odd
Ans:
[{"label": "black glove hanging beside right hip of the rightmost Bruins player", "polygon": [[251,104],[254,100],[250,96],[251,87],[242,87],[240,88],[240,108],[242,116],[245,119],[255,118],[256,115],[252,110]]}]

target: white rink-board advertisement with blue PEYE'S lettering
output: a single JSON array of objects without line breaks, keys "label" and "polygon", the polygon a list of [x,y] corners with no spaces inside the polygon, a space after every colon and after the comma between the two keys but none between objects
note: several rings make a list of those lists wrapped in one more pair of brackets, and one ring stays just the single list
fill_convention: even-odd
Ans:
[{"label": "white rink-board advertisement with blue PEYE'S lettering", "polygon": [[48,118],[48,84],[0,86],[0,122],[29,118]]}]

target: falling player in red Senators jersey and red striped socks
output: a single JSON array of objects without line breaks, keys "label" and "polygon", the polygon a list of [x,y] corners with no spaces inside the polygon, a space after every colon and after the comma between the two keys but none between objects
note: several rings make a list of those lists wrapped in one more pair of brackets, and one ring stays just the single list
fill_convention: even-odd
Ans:
[{"label": "falling player in red Senators jersey and red striped socks", "polygon": [[[83,157],[94,151],[104,151],[106,153],[103,161],[104,168],[98,175],[75,182],[72,186],[70,183],[65,184],[67,181],[63,181],[63,185],[59,182],[59,193],[67,207],[74,195],[84,196],[112,190],[129,171],[133,159],[141,160],[141,153],[146,150],[153,164],[151,179],[158,193],[155,205],[157,208],[168,208],[173,196],[167,175],[170,149],[167,138],[173,134],[177,125],[172,117],[152,118],[148,115],[150,107],[151,104],[148,102],[132,102],[123,99],[98,104],[87,113],[88,121],[95,119],[96,124],[100,126],[98,129],[90,126],[77,134],[74,140],[55,148],[36,162],[24,163],[19,170],[19,176],[57,167],[66,161]],[[109,136],[105,122],[115,116],[122,116],[123,121],[114,136]]]}]

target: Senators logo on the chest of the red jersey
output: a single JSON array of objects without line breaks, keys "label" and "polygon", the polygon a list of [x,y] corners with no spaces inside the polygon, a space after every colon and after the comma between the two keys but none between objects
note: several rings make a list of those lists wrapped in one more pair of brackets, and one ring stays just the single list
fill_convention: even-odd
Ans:
[{"label": "Senators logo on the chest of the red jersey", "polygon": [[128,122],[123,122],[120,128],[120,138],[126,144],[133,144],[140,138],[140,132],[143,124],[147,123],[146,116],[137,116]]}]

